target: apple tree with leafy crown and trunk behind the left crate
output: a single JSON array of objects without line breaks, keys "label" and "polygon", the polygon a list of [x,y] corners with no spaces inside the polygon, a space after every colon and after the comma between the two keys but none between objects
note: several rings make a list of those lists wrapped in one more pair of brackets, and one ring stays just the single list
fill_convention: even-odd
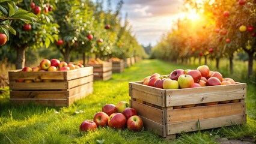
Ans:
[{"label": "apple tree with leafy crown and trunk behind the left crate", "polygon": [[23,10],[34,13],[38,19],[28,22],[13,21],[11,26],[16,28],[16,35],[11,35],[8,45],[16,51],[16,68],[25,67],[25,52],[27,49],[38,49],[49,47],[58,38],[58,25],[53,22],[52,8],[55,7],[54,0],[23,0],[17,1],[16,5]]}]

